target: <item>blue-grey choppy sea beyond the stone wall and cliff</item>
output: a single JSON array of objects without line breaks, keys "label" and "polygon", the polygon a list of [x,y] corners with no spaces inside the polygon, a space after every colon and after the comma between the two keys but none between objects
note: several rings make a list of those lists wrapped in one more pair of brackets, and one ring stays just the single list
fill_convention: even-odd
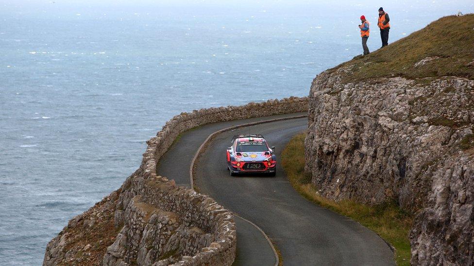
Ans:
[{"label": "blue-grey choppy sea beyond the stone wall and cliff", "polygon": [[[471,0],[391,1],[389,42]],[[361,54],[376,1],[0,1],[0,265],[46,244],[139,166],[182,111],[308,94]]]}]

